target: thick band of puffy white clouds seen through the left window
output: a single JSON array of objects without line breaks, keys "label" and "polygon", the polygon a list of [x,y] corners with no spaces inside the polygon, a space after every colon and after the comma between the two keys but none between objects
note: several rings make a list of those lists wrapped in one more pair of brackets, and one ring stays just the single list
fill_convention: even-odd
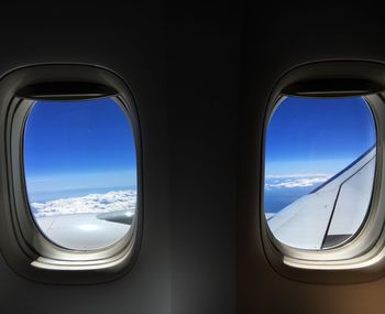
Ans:
[{"label": "thick band of puffy white clouds seen through the left window", "polygon": [[59,198],[45,203],[31,203],[35,218],[89,213],[111,213],[130,210],[134,214],[136,207],[136,191],[117,191],[106,194],[89,194],[80,197]]}]

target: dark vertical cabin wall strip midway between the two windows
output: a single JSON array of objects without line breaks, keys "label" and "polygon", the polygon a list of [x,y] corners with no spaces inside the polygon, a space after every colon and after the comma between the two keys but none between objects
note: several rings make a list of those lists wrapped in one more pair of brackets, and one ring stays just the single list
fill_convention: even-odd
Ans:
[{"label": "dark vertical cabin wall strip midway between the two windows", "polygon": [[240,7],[168,7],[173,313],[235,313]]}]

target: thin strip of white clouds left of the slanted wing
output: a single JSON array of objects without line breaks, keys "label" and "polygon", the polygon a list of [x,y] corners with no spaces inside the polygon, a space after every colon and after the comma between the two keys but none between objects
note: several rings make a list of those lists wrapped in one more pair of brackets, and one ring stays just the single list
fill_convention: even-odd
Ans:
[{"label": "thin strip of white clouds left of the slanted wing", "polygon": [[323,183],[329,177],[326,175],[322,176],[274,176],[266,180],[265,187],[308,187],[316,184]]}]

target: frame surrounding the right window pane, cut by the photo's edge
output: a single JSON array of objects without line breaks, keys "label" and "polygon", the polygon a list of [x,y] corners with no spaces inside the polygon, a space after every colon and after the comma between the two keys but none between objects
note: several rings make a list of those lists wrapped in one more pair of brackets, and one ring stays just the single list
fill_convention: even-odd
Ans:
[{"label": "frame surrounding the right window pane, cut by the photo's edge", "polygon": [[[331,83],[331,84],[330,84]],[[364,88],[362,88],[364,87]],[[261,151],[260,230],[270,264],[282,275],[306,282],[345,283],[371,280],[385,273],[385,65],[361,61],[308,63],[287,72],[275,85],[265,109]],[[268,122],[286,96],[362,96],[376,126],[376,169],[365,221],[345,243],[330,249],[288,247],[274,237],[264,214],[265,141]],[[360,271],[358,271],[360,270]]]}]

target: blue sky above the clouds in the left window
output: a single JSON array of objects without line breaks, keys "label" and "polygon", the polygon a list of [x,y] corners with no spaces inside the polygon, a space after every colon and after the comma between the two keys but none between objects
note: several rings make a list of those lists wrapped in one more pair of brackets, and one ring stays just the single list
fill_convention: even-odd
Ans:
[{"label": "blue sky above the clouds in the left window", "polygon": [[28,192],[136,185],[134,137],[110,98],[36,101],[24,133]]}]

